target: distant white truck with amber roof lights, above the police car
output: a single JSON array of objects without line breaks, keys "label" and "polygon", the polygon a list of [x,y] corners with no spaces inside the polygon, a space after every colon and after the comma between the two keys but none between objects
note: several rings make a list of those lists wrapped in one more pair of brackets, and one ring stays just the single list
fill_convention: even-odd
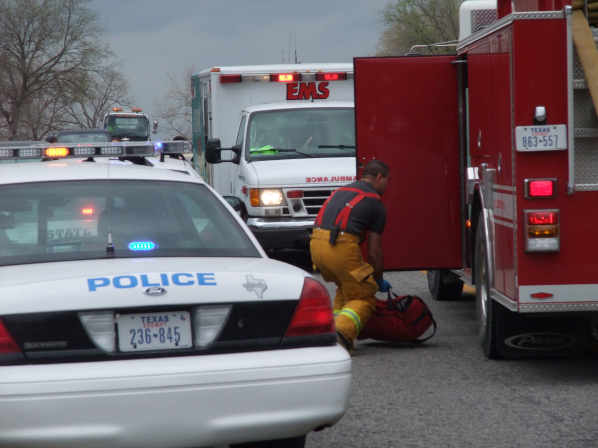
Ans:
[{"label": "distant white truck with amber roof lights, above the police car", "polygon": [[[103,118],[103,128],[108,129],[112,137],[118,137],[123,142],[149,142],[149,118],[141,108],[112,108]],[[154,120],[152,133],[158,129],[158,121]]]}]

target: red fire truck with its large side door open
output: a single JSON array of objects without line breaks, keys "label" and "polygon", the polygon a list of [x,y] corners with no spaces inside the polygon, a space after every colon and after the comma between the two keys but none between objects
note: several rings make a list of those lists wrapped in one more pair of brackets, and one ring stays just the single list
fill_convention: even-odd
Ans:
[{"label": "red fire truck with its large side door open", "polygon": [[465,1],[454,54],[354,59],[358,170],[391,168],[384,267],[426,269],[437,300],[475,286],[487,358],[579,354],[596,327],[586,14],[568,0]]}]

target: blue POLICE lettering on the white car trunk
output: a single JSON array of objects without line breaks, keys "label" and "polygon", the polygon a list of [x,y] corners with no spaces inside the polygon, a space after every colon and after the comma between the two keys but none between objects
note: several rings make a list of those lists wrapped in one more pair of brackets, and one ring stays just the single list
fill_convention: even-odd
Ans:
[{"label": "blue POLICE lettering on the white car trunk", "polygon": [[94,277],[87,279],[87,286],[90,291],[97,291],[99,288],[112,286],[117,289],[129,289],[137,286],[159,287],[169,286],[172,283],[176,286],[216,286],[218,283],[213,272],[176,272],[175,274],[141,274],[117,275],[116,277]]}]

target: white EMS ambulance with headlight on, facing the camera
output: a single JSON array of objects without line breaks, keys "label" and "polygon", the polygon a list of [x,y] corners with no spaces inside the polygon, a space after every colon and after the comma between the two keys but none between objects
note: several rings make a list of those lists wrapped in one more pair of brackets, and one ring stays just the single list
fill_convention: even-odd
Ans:
[{"label": "white EMS ambulance with headlight on, facing the camera", "polygon": [[191,76],[194,167],[266,249],[306,248],[356,179],[352,63],[212,67]]}]

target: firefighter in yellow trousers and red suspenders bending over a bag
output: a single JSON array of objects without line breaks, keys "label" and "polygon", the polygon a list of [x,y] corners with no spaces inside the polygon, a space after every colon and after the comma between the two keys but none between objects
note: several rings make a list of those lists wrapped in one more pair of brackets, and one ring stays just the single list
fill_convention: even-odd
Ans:
[{"label": "firefighter in yellow trousers and red suspenders bending over a bag", "polygon": [[[380,239],[386,223],[386,208],[380,196],[390,179],[388,165],[368,162],[361,180],[334,191],[315,221],[310,251],[314,268],[325,281],[336,284],[334,322],[338,342],[354,353],[353,340],[374,311],[376,291],[390,284],[382,276]],[[367,238],[365,262],[359,243]]]}]

